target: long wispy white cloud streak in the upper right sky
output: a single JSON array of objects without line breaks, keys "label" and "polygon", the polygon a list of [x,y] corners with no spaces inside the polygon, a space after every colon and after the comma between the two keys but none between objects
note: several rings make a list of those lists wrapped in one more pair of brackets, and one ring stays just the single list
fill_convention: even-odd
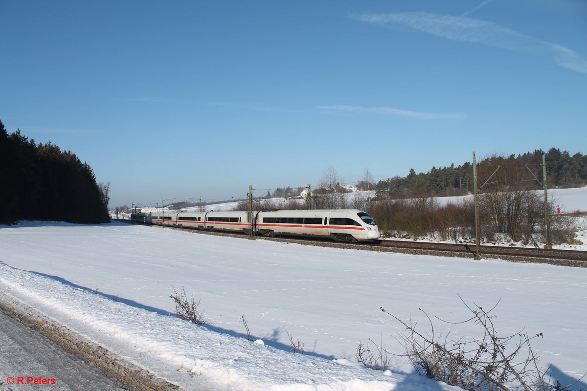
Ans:
[{"label": "long wispy white cloud streak in the upper right sky", "polygon": [[[487,2],[480,6],[484,4]],[[430,12],[361,13],[350,17],[380,26],[406,25],[451,40],[480,43],[515,52],[548,54],[562,67],[587,73],[587,60],[568,47],[545,42],[493,22]]]}]

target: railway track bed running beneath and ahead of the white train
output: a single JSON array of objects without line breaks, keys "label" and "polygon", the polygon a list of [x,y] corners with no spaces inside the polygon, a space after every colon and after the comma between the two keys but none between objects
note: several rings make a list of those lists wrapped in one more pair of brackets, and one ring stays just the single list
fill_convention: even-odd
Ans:
[{"label": "railway track bed running beneath and ahead of the white train", "polygon": [[[130,220],[118,220],[130,222]],[[157,226],[162,227],[162,226]],[[162,228],[181,230],[191,233],[203,233],[218,236],[248,238],[245,234],[227,233],[220,231],[197,230],[180,227],[163,226]],[[259,239],[273,240],[284,243],[299,243],[309,246],[336,247],[341,249],[382,251],[390,253],[433,255],[444,257],[461,257],[472,259],[475,256],[475,245],[470,243],[450,244],[415,242],[407,240],[383,240],[379,244],[373,243],[342,243],[329,239],[301,239],[298,237],[266,237]],[[549,250],[529,249],[527,247],[480,246],[480,253],[484,259],[502,259],[516,262],[548,263],[560,266],[587,267],[587,251],[579,250]]]}]

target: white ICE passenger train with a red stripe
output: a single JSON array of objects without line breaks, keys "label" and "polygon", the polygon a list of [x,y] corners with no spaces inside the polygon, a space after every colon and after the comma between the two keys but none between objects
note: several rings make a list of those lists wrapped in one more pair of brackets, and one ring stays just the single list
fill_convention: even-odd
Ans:
[{"label": "white ICE passenger train with a red stripe", "polygon": [[[133,213],[132,220],[176,227],[249,233],[248,212]],[[339,242],[379,242],[375,219],[359,209],[271,210],[253,212],[257,235],[331,237]]]}]

